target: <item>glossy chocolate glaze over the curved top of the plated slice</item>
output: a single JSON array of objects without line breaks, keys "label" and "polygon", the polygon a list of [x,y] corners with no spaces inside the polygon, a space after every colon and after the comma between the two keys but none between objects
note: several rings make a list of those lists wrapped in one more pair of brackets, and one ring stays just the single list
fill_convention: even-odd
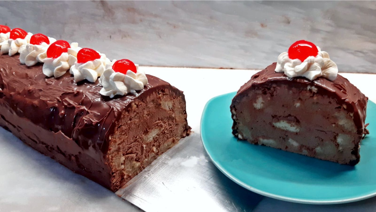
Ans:
[{"label": "glossy chocolate glaze over the curved top of the plated slice", "polygon": [[318,93],[337,99],[338,104],[345,104],[346,110],[354,113],[354,122],[358,129],[358,134],[368,133],[364,126],[368,97],[362,94],[349,80],[339,74],[334,81],[323,77],[312,81],[304,77],[290,78],[284,73],[275,72],[276,64],[273,63],[264,70],[254,74],[247,83],[240,87],[234,99],[246,94],[244,91],[251,86],[258,86],[264,83],[290,82],[289,85],[291,86],[294,86],[294,83],[315,86],[318,89]]}]

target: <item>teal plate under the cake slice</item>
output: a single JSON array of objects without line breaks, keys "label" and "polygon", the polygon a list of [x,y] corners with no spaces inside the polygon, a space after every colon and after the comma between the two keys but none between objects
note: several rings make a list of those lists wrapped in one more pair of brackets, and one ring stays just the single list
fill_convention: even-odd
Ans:
[{"label": "teal plate under the cake slice", "polygon": [[[279,200],[335,204],[376,195],[376,124],[362,141],[361,160],[351,167],[252,145],[232,135],[230,104],[236,92],[214,97],[201,118],[202,143],[213,163],[250,191]],[[368,101],[366,123],[376,120],[376,104]]]}]

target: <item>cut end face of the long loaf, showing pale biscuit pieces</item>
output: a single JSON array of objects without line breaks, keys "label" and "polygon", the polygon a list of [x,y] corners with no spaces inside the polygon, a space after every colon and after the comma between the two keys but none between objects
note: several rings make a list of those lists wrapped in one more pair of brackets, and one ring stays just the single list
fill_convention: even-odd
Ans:
[{"label": "cut end face of the long loaf, showing pale biscuit pieces", "polygon": [[110,139],[107,158],[116,191],[190,134],[185,100],[177,89],[159,89],[124,109]]}]

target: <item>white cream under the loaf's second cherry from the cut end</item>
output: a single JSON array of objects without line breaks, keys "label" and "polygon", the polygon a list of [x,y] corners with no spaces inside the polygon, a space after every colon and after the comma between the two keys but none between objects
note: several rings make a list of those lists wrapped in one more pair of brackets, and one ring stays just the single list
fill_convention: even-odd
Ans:
[{"label": "white cream under the loaf's second cherry from the cut end", "polygon": [[100,58],[93,61],[85,63],[75,62],[69,72],[73,74],[76,83],[85,79],[89,82],[96,82],[98,77],[102,76],[106,70],[106,64],[111,64],[111,61],[105,54],[100,54]]}]

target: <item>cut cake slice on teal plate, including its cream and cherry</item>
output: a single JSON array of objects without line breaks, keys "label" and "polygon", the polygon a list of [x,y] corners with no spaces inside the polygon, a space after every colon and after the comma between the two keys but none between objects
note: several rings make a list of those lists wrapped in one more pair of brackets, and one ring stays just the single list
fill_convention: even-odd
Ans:
[{"label": "cut cake slice on teal plate, including its cream and cherry", "polygon": [[[293,44],[277,63],[241,86],[230,106],[233,134],[252,144],[356,165],[368,133],[368,98],[337,75],[326,52],[318,48],[304,55],[307,45],[316,48],[309,42],[303,49]],[[291,48],[300,48],[299,53]]]}]

